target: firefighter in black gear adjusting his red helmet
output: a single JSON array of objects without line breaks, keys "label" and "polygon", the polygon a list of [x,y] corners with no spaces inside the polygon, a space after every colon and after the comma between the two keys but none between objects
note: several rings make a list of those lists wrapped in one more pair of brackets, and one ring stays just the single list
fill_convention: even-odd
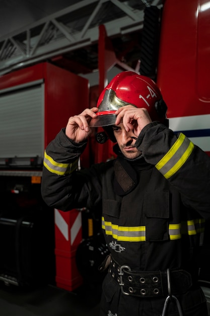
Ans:
[{"label": "firefighter in black gear adjusting his red helmet", "polygon": [[[108,266],[101,316],[207,316],[198,254],[210,217],[210,159],[168,128],[166,110],[154,81],[125,71],[45,150],[42,196],[49,206],[102,205],[110,255],[101,267]],[[117,158],[77,170],[98,126]]]}]

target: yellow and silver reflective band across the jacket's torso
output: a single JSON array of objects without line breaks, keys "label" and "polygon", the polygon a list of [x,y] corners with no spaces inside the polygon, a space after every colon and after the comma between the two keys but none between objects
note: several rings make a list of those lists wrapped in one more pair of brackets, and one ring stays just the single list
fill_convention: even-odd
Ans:
[{"label": "yellow and silver reflective band across the jacket's torso", "polygon": [[[180,239],[182,235],[198,235],[204,232],[205,220],[195,219],[181,224],[169,224],[169,238]],[[146,226],[118,226],[105,221],[102,217],[102,229],[105,234],[118,241],[146,241]]]}]

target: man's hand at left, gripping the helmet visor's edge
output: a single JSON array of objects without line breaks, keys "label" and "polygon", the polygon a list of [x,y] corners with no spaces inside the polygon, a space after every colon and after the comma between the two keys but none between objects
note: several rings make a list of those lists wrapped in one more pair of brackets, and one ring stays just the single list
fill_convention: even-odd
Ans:
[{"label": "man's hand at left, gripping the helmet visor's edge", "polygon": [[91,134],[90,121],[96,118],[98,108],[85,109],[81,114],[68,119],[65,134],[76,143],[82,142]]}]

